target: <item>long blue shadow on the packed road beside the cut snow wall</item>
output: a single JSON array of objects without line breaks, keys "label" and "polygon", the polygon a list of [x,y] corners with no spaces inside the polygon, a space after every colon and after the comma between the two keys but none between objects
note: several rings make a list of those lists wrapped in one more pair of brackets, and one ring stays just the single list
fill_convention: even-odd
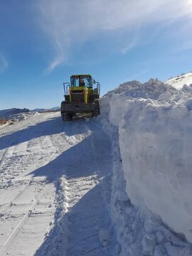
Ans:
[{"label": "long blue shadow on the packed road beside the cut snow wall", "polygon": [[[102,140],[102,142],[101,142]],[[95,151],[91,144],[94,143]],[[102,143],[102,144],[101,144]],[[104,143],[104,144],[103,144]],[[102,172],[100,173],[100,168]],[[36,251],[39,255],[113,255],[102,248],[100,228],[108,228],[110,218],[102,200],[103,185],[107,201],[110,201],[112,163],[108,139],[97,137],[97,132],[90,134],[82,142],[70,147],[60,156],[31,172],[33,177],[46,176],[48,182],[55,183],[55,201],[57,208],[54,215],[54,226],[41,247]],[[62,176],[73,182],[74,178],[85,178],[97,174],[104,176],[102,182],[85,193],[67,213],[65,209],[65,193]],[[69,185],[70,186],[70,185]],[[79,188],[80,189],[80,188]],[[112,238],[114,239],[114,238]]]}]

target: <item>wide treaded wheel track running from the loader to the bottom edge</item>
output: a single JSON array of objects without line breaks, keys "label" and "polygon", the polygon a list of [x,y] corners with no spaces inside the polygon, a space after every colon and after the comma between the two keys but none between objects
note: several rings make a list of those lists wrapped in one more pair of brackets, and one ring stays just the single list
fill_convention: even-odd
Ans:
[{"label": "wide treaded wheel track running from the loader to the bottom edge", "polygon": [[60,134],[57,142],[64,170],[58,189],[62,194],[58,196],[59,218],[50,230],[50,238],[43,242],[36,255],[112,256],[112,243],[100,240],[100,230],[108,228],[109,213],[103,200],[102,179],[97,174],[94,154],[98,152],[92,146],[92,132],[97,137],[97,129],[85,121],[68,122],[63,129],[65,132]]}]

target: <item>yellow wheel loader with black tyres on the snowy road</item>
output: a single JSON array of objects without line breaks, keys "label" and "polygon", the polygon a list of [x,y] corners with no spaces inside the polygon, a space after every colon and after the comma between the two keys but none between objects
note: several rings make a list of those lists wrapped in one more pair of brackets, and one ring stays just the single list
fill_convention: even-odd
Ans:
[{"label": "yellow wheel loader with black tyres on the snowy road", "polygon": [[77,113],[91,113],[92,117],[100,114],[100,82],[95,82],[91,75],[72,75],[70,83],[64,82],[63,87],[65,100],[60,105],[63,121],[73,119]]}]

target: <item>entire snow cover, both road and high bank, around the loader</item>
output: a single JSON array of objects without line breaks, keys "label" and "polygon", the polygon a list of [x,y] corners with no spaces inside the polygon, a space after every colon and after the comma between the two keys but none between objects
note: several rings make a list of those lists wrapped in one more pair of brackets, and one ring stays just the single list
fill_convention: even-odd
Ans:
[{"label": "entire snow cover, both road and high bank, around the loader", "polygon": [[1,127],[0,255],[191,255],[191,88],[126,82],[98,117]]}]

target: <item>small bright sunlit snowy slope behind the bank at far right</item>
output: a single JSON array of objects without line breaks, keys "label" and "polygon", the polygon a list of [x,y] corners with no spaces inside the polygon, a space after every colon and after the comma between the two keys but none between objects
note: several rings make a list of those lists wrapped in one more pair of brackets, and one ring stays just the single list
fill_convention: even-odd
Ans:
[{"label": "small bright sunlit snowy slope behind the bank at far right", "polygon": [[165,82],[179,90],[183,87],[183,85],[192,85],[192,72],[178,75],[176,78],[170,78]]}]

